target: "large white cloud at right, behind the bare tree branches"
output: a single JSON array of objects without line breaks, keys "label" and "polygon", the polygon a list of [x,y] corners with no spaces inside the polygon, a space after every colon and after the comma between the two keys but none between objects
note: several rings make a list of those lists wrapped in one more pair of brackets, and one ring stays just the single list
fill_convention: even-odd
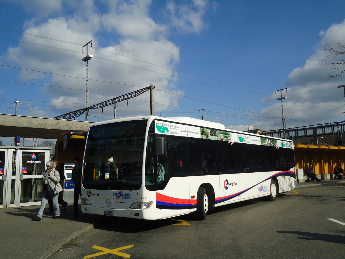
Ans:
[{"label": "large white cloud at right, behind the bare tree branches", "polygon": [[[329,74],[336,71],[330,70],[323,62],[329,54],[324,48],[329,42],[345,41],[345,23],[333,24],[319,34],[321,41],[315,53],[306,60],[303,67],[295,68],[288,76],[287,93],[283,91],[284,118],[289,119],[286,126],[296,127],[326,122],[344,121],[344,94],[343,89],[337,88],[344,84],[344,79],[328,79]],[[344,57],[342,57],[344,59]],[[282,88],[285,88],[282,87]],[[263,99],[263,102],[275,102],[272,106],[260,111],[262,114],[276,116],[271,122],[258,122],[255,125],[263,130],[282,128],[281,102],[276,100],[280,97],[271,96]],[[280,118],[279,118],[280,117]],[[324,118],[324,119],[321,119]]]}]

